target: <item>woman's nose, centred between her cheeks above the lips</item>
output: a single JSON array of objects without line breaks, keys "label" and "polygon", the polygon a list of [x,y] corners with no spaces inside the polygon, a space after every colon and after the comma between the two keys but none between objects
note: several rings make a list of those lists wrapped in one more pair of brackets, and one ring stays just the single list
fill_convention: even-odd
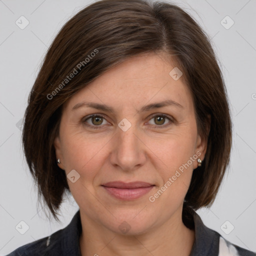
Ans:
[{"label": "woman's nose, centred between her cheeks above the lips", "polygon": [[[139,135],[140,134],[140,135]],[[136,170],[146,161],[146,145],[136,125],[131,125],[126,131],[117,127],[112,140],[110,162],[124,171]]]}]

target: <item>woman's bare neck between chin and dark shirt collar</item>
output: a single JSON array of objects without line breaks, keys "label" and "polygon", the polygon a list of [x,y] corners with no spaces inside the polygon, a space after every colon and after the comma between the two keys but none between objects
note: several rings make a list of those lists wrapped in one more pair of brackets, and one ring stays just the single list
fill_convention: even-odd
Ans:
[{"label": "woman's bare neck between chin and dark shirt collar", "polygon": [[174,213],[162,225],[135,235],[113,232],[81,214],[81,255],[188,256],[194,243],[194,230],[183,224],[181,211]]}]

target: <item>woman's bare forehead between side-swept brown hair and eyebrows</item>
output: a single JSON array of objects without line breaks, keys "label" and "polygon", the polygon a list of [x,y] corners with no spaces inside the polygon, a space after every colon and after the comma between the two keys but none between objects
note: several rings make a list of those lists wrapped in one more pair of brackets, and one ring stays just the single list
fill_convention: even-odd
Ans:
[{"label": "woman's bare forehead between side-swept brown hair and eyebrows", "polygon": [[82,101],[139,107],[162,100],[174,100],[184,107],[191,107],[190,91],[182,75],[173,79],[173,68],[176,68],[174,61],[162,54],[132,56],[78,91],[68,100],[67,107],[72,108]]}]

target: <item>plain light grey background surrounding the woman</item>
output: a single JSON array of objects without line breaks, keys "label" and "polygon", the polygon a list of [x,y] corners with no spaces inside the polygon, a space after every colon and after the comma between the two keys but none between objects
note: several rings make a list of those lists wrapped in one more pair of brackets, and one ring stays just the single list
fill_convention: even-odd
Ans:
[{"label": "plain light grey background surrounding the woman", "polygon": [[[22,153],[19,122],[48,46],[64,22],[90,2],[0,0],[0,255],[63,228],[78,209],[70,198],[61,206],[61,224],[46,219]],[[172,2],[187,10],[210,36],[234,126],[228,174],[212,207],[197,212],[229,241],[256,251],[256,0]],[[21,15],[29,21],[24,29],[15,23]],[[234,21],[229,29],[222,25],[231,24],[223,19],[226,15]],[[21,220],[29,226],[24,234],[15,229]],[[226,220],[230,223],[221,229]],[[225,234],[231,225],[234,229]]]}]

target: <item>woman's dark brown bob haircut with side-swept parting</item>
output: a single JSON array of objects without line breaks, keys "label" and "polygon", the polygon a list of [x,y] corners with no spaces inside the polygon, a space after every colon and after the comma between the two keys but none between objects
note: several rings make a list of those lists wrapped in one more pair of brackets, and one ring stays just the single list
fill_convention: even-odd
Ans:
[{"label": "woman's dark brown bob haircut with side-swept parting", "polygon": [[213,203],[229,163],[232,123],[210,39],[175,4],[100,0],[60,29],[44,57],[24,114],[24,155],[38,196],[57,221],[64,192],[71,194],[53,145],[63,104],[111,67],[150,52],[163,53],[182,71],[192,94],[198,134],[207,139],[204,160],[193,171],[184,198],[182,218],[186,210]]}]

